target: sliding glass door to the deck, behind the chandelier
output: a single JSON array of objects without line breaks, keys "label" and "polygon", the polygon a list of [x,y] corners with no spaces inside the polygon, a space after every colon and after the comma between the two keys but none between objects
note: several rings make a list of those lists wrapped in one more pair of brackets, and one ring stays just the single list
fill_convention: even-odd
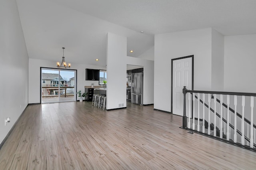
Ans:
[{"label": "sliding glass door to the deck, behind the chandelier", "polygon": [[41,68],[41,103],[76,101],[76,70]]}]

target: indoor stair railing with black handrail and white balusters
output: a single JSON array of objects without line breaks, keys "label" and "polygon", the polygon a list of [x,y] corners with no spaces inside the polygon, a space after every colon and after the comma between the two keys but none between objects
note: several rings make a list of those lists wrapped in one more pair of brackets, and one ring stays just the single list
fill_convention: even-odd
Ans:
[{"label": "indoor stair railing with black handrail and white balusters", "polygon": [[[188,93],[188,115],[186,114],[186,94]],[[198,93],[198,95],[196,96],[195,94]],[[254,109],[254,97],[256,97],[256,93],[236,93],[236,92],[220,92],[220,91],[194,91],[194,90],[188,90],[186,89],[186,87],[184,87],[183,89],[183,94],[184,94],[184,113],[183,113],[183,118],[182,118],[182,122],[183,122],[183,125],[182,125],[182,128],[185,128],[185,129],[191,129],[191,130],[194,130],[194,131],[198,131],[200,132],[200,115],[202,117],[202,133],[204,133],[205,135],[209,135],[209,136],[213,136],[215,138],[218,138],[220,140],[225,140],[223,139],[223,135],[226,137],[226,140],[225,141],[231,141],[232,143],[235,143],[235,144],[240,144],[241,146],[245,146],[245,140],[247,140],[250,144],[250,148],[254,148],[256,147],[256,143],[255,142],[255,136],[256,136],[256,126],[253,124],[253,109]],[[192,94],[192,99],[191,99],[191,94]],[[202,94],[202,100],[200,99],[200,94]],[[205,94],[208,94],[208,97],[206,98],[205,97]],[[213,95],[213,97],[212,97]],[[220,95],[220,100],[217,99],[216,95]],[[223,95],[226,95],[226,103],[225,104],[223,102]],[[235,106],[235,109],[231,109],[230,108],[230,95],[234,97],[234,106]],[[242,97],[242,102],[241,102],[241,105],[242,105],[242,115],[240,115],[239,113],[237,113],[236,111],[236,107],[237,107],[237,96],[241,96]],[[250,108],[251,108],[251,111],[250,111],[250,121],[248,119],[246,119],[244,117],[245,113],[244,113],[244,107],[245,107],[245,97],[246,96],[249,96],[250,97]],[[197,106],[197,114],[195,113],[195,101],[198,101],[198,106]],[[213,99],[213,102],[211,101],[211,99]],[[232,98],[233,99],[233,98]],[[220,114],[218,114],[216,112],[216,104],[220,103]],[[192,103],[192,107],[190,107],[190,103]],[[199,103],[202,103],[203,104],[203,107],[202,107],[202,111],[200,111],[200,105]],[[208,103],[208,105],[206,104]],[[214,106],[214,109],[212,109],[210,107],[210,104],[213,104]],[[226,108],[226,111],[227,113],[227,119],[225,119],[223,117],[223,109],[222,109],[222,106],[224,106]],[[208,114],[205,114],[207,111],[205,111],[205,107],[208,109]],[[192,108],[192,111],[190,111],[190,109]],[[191,112],[191,114],[190,114]],[[203,114],[200,112],[203,112]],[[234,113],[234,121],[231,123],[231,115],[230,115],[230,112],[231,113]],[[214,113],[213,115],[213,120],[211,119],[211,116],[212,116],[212,113]],[[197,119],[198,119],[198,124],[197,124],[197,130],[195,130],[195,115],[197,115]],[[192,117],[192,128],[190,128],[190,117]],[[217,118],[218,117],[218,121],[219,121],[219,126],[217,125]],[[236,117],[239,117],[241,119],[241,132],[238,130],[237,128],[237,119]],[[207,119],[207,120],[206,120]],[[208,127],[204,127],[205,125],[205,121],[207,122],[208,121]],[[213,134],[211,134],[211,128],[210,128],[210,125],[211,125],[211,121],[212,121],[212,125],[214,126],[213,127]],[[234,123],[234,124],[233,124]],[[244,123],[247,123],[247,126],[250,125],[250,128],[247,129],[247,135],[245,135],[245,130],[244,130]],[[187,125],[188,124],[188,125]],[[224,126],[226,125],[227,128],[226,130],[223,131],[223,124]],[[207,129],[207,132],[204,131],[204,129]],[[234,134],[230,134],[231,130],[230,129],[233,129],[234,130]],[[216,130],[219,129],[219,135],[220,136],[216,136]],[[224,128],[225,129],[225,128]],[[250,135],[249,135],[249,132],[250,132]],[[240,143],[237,141],[237,134],[241,136],[241,141]],[[232,140],[233,138],[233,140]]]}]

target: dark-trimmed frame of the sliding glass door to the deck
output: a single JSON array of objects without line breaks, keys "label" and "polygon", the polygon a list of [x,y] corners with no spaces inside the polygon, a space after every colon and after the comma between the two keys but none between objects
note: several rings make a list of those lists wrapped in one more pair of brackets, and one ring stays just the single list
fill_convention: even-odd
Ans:
[{"label": "dark-trimmed frame of the sliding glass door to the deck", "polygon": [[[60,81],[60,71],[74,71],[74,77],[75,77],[75,86],[74,86],[74,101],[76,101],[77,99],[77,95],[76,95],[76,89],[77,89],[77,70],[76,69],[56,69],[56,68],[50,68],[50,67],[40,67],[40,103],[42,104],[42,70],[54,70],[54,71],[58,71],[59,74],[59,81]],[[58,91],[60,91],[60,82],[58,82]],[[61,101],[60,100],[60,93],[58,93],[58,101],[57,103],[60,102],[67,102],[67,101]],[[47,102],[47,103],[56,103],[56,101],[53,102]]]}]

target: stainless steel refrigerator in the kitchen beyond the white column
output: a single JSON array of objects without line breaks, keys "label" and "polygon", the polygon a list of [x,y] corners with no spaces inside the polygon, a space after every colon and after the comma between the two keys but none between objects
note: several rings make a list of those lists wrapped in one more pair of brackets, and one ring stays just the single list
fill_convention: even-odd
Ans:
[{"label": "stainless steel refrigerator in the kitchen beyond the white column", "polygon": [[132,73],[131,77],[131,103],[143,105],[143,73]]}]

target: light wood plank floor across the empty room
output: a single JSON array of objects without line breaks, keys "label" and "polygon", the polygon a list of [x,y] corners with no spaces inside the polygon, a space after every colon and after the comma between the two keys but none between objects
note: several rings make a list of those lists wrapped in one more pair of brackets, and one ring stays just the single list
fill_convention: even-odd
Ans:
[{"label": "light wood plank floor across the empty room", "polygon": [[152,105],[28,105],[0,150],[0,169],[256,169],[256,152],[181,125],[182,117]]}]

